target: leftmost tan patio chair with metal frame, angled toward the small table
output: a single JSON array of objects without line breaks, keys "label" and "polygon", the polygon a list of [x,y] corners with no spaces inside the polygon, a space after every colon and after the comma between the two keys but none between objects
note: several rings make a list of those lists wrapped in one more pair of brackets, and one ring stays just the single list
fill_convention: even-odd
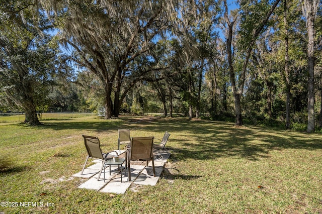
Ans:
[{"label": "leftmost tan patio chair with metal frame, angled toward the small table", "polygon": [[89,158],[95,159],[95,160],[99,160],[102,161],[102,167],[100,169],[100,174],[97,178],[97,180],[100,179],[101,174],[102,174],[102,170],[105,166],[105,162],[108,159],[112,159],[115,155],[111,154],[112,152],[115,152],[116,155],[118,155],[118,153],[116,151],[111,151],[109,153],[102,153],[102,149],[100,147],[100,140],[97,137],[92,137],[92,136],[86,136],[86,135],[82,135],[84,138],[84,143],[85,143],[85,147],[88,153],[88,156],[86,158],[84,167],[82,169],[81,175],[84,172],[84,169],[86,167],[87,161],[89,160]]}]

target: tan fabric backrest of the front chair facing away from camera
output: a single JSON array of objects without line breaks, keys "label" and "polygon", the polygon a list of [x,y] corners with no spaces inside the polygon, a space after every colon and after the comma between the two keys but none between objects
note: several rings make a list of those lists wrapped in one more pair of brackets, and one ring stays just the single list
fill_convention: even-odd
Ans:
[{"label": "tan fabric backrest of the front chair facing away from camera", "polygon": [[154,137],[135,137],[131,138],[130,160],[144,160],[153,157]]}]

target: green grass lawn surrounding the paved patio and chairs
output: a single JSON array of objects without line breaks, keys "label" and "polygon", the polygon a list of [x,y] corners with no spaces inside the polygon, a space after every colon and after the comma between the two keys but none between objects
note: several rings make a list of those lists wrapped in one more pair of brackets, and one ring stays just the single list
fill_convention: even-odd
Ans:
[{"label": "green grass lawn surrounding the paved patio and chairs", "polygon": [[[41,122],[0,123],[0,213],[322,213],[321,134],[159,117]],[[84,180],[69,178],[87,156],[82,134],[109,151],[124,128],[171,133],[156,186],[119,195],[77,188]]]}]

